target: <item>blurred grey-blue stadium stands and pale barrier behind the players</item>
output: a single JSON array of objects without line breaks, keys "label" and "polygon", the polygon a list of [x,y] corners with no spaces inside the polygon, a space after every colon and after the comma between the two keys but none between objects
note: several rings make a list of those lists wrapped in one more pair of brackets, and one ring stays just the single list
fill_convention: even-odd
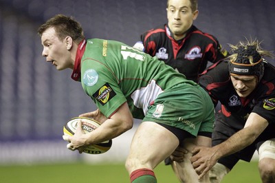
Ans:
[{"label": "blurred grey-blue stadium stands and pale barrier behind the players", "polygon": [[[251,36],[274,50],[274,7],[274,0],[201,0],[195,25],[226,49]],[[58,72],[41,56],[36,30],[59,13],[76,17],[87,38],[133,45],[142,32],[166,23],[166,0],[0,0],[0,164],[122,162],[129,151],[139,120],[108,153],[66,149],[65,122],[96,107],[70,78],[71,70]]]}]

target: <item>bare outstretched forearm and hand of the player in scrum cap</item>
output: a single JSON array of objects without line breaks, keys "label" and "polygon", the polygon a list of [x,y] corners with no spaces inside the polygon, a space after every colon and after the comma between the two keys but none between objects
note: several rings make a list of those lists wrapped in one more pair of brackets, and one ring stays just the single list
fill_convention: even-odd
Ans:
[{"label": "bare outstretched forearm and hand of the player in scrum cap", "polygon": [[225,140],[225,142],[211,148],[196,147],[192,151],[195,155],[192,156],[191,162],[199,177],[205,175],[220,158],[236,153],[252,144],[267,125],[268,122],[265,118],[251,113],[245,123],[245,127],[228,138],[228,140]]}]

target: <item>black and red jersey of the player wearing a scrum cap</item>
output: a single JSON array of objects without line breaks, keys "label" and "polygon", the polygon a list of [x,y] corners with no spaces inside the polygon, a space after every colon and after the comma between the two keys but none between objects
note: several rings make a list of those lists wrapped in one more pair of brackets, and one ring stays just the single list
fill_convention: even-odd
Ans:
[{"label": "black and red jersey of the player wearing a scrum cap", "polygon": [[275,67],[267,62],[264,65],[263,78],[246,98],[236,94],[228,72],[228,61],[214,63],[199,77],[199,85],[210,94],[214,104],[217,105],[218,101],[221,103],[219,112],[224,119],[228,118],[232,126],[243,127],[251,112],[275,125]]}]

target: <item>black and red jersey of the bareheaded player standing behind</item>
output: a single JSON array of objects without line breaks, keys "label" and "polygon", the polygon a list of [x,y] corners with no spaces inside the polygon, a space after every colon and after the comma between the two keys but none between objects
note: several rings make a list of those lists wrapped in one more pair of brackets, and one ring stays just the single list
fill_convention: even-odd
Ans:
[{"label": "black and red jersey of the bareheaded player standing behind", "polygon": [[141,40],[144,52],[157,56],[159,60],[196,83],[198,75],[206,69],[208,61],[216,63],[227,55],[214,36],[201,32],[194,25],[181,41],[173,39],[172,32],[166,24],[148,30],[141,35]]}]

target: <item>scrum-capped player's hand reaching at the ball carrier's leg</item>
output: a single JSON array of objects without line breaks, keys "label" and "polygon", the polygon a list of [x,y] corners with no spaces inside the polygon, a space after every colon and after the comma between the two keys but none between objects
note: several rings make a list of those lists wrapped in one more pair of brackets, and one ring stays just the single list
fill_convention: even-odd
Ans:
[{"label": "scrum-capped player's hand reaching at the ball carrier's leg", "polygon": [[216,150],[212,147],[195,147],[192,150],[191,163],[199,175],[199,179],[217,163]]}]

